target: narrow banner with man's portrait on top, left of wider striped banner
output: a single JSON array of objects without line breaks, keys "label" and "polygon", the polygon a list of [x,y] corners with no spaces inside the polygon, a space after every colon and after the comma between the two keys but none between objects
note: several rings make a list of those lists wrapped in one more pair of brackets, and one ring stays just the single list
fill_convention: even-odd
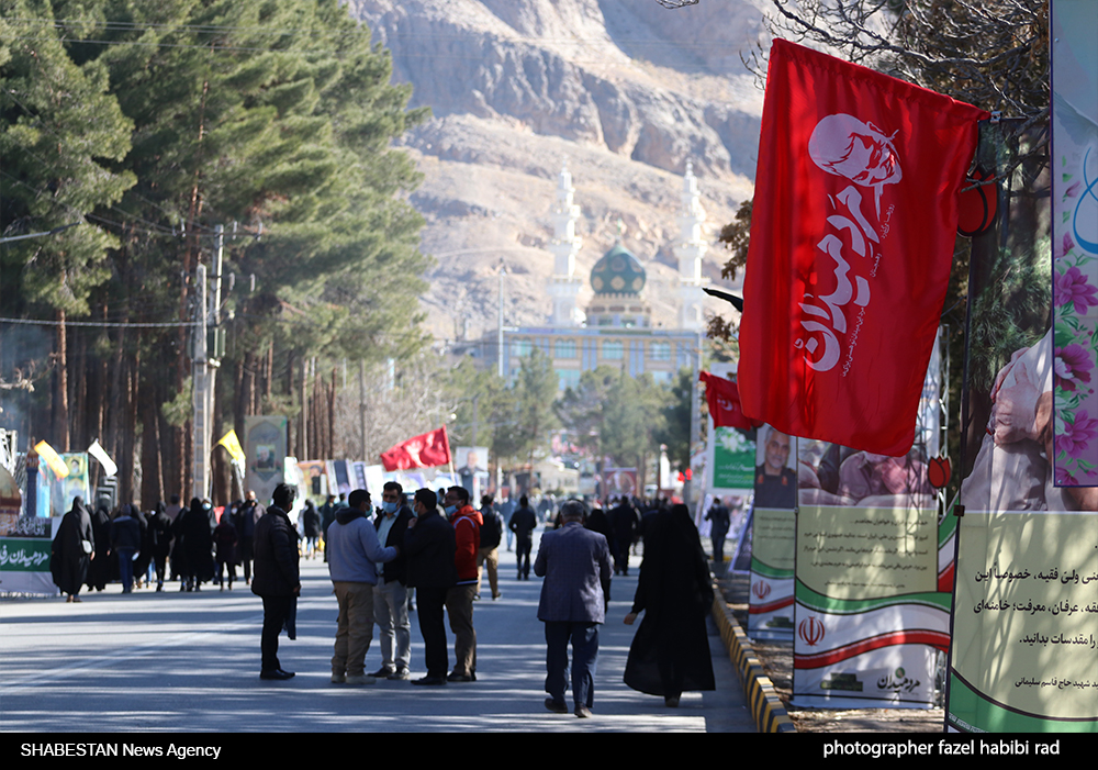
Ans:
[{"label": "narrow banner with man's portrait on top, left of wider striped banner", "polygon": [[748,636],[792,639],[797,439],[765,425],[758,445]]}]

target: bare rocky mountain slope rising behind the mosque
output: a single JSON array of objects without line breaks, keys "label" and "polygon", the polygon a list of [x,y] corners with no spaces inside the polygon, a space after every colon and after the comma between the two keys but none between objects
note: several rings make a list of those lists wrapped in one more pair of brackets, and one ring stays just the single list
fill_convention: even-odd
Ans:
[{"label": "bare rocky mountain slope rising behind the mosque", "polygon": [[[624,231],[646,264],[653,321],[674,325],[676,215],[687,160],[715,235],[751,194],[762,91],[741,54],[764,40],[764,0],[677,10],[654,0],[349,0],[395,79],[433,119],[404,143],[437,259],[422,298],[436,337],[544,324],[550,210],[568,161],[582,211],[578,270]],[[720,282],[720,248],[706,275]],[[589,284],[581,305],[592,295]],[[727,308],[727,305],[726,305]],[[713,310],[721,303],[714,301]]]}]

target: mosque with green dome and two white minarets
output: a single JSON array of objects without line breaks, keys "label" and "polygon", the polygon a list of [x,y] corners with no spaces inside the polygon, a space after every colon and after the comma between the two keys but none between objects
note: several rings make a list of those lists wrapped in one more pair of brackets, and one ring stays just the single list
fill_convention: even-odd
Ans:
[{"label": "mosque with green dome and two white minarets", "polygon": [[502,372],[511,378],[522,359],[540,348],[551,360],[559,388],[576,387],[584,371],[607,365],[632,377],[643,372],[670,383],[679,369],[693,362],[705,330],[702,306],[702,257],[708,244],[702,237],[705,210],[697,178],[686,165],[679,210],[680,236],[674,245],[679,260],[677,328],[652,326],[652,308],[646,299],[647,271],[640,259],[621,245],[610,247],[591,270],[595,295],[585,311],[578,305],[582,279],[575,256],[582,239],[575,234],[580,208],[573,202],[572,175],[561,169],[552,210],[553,237],[549,252],[553,274],[548,284],[552,313],[546,326],[503,330]]}]

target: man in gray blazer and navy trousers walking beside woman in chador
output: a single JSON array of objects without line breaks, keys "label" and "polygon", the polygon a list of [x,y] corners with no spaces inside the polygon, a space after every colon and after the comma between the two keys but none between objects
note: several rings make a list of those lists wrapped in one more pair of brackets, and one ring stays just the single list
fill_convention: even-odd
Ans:
[{"label": "man in gray blazer and navy trousers walking beside woman in chador", "polygon": [[572,699],[575,715],[591,716],[598,624],[610,596],[610,549],[606,538],[583,528],[585,509],[569,500],[560,509],[563,526],[542,535],[534,573],[544,577],[538,620],[546,624],[546,708],[568,713],[568,643],[572,643]]}]

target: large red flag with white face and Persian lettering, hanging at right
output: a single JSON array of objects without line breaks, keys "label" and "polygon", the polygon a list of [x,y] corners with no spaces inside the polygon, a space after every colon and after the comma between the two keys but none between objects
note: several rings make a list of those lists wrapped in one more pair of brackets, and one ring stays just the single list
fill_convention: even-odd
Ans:
[{"label": "large red flag with white face and Persian lettering, hanging at right", "polygon": [[776,40],[740,322],[743,411],[901,455],[982,110]]}]

